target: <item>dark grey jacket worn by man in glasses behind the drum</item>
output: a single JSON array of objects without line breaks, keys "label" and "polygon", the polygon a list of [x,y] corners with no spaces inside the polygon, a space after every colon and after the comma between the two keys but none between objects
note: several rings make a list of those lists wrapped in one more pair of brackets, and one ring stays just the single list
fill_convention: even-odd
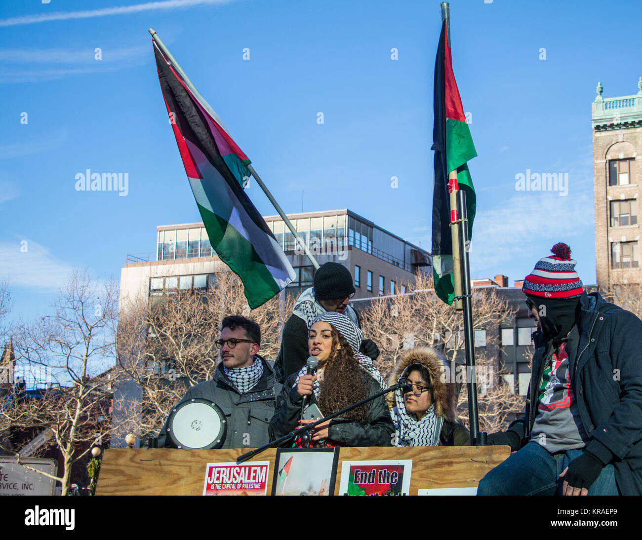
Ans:
[{"label": "dark grey jacket worn by man in glasses behind the drum", "polygon": [[[223,410],[227,434],[221,448],[258,448],[270,441],[268,426],[274,416],[275,398],[281,392],[281,384],[276,382],[270,364],[263,357],[256,357],[263,362],[263,376],[249,392],[239,394],[225,376],[223,362],[219,362],[211,380],[191,387],[178,402],[180,405],[193,398],[202,398],[213,401]],[[167,428],[168,422],[160,430],[159,448],[173,448]]]}]

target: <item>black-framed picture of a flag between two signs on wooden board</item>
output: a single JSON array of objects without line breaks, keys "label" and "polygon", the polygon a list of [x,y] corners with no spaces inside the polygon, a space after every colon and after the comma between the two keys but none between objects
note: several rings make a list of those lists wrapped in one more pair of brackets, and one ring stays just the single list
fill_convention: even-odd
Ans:
[{"label": "black-framed picture of a flag between two signs on wooden board", "polygon": [[273,495],[334,495],[338,448],[277,448]]}]

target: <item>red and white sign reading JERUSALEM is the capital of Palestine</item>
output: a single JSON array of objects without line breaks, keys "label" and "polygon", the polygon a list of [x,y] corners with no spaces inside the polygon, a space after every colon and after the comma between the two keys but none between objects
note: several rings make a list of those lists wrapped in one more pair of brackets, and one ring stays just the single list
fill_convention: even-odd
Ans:
[{"label": "red and white sign reading JERUSALEM is the capital of Palestine", "polygon": [[250,463],[208,463],[204,495],[265,495],[268,489],[269,461]]}]

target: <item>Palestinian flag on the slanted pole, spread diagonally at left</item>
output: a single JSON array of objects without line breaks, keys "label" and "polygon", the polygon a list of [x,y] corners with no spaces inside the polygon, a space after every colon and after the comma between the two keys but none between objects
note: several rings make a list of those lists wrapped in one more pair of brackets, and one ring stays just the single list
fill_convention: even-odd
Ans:
[{"label": "Palestinian flag on the slanted pole, spread diagonally at left", "polygon": [[209,241],[241,278],[250,308],[259,307],[279,294],[295,273],[243,190],[250,160],[213,108],[152,42],[169,122]]}]

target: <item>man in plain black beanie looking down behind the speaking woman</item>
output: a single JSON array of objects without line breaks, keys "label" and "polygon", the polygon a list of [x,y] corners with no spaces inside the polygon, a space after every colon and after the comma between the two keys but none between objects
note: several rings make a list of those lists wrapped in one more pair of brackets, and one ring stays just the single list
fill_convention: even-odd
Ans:
[{"label": "man in plain black beanie looking down behind the speaking woman", "polygon": [[[291,316],[283,327],[281,350],[274,362],[277,381],[285,382],[297,373],[308,360],[308,329],[312,321],[326,311],[336,311],[361,326],[357,312],[349,305],[354,296],[350,271],[336,262],[326,262],[315,273],[314,287],[303,291],[294,305]],[[361,342],[361,352],[371,360],[379,356],[379,349],[371,339]]]}]

